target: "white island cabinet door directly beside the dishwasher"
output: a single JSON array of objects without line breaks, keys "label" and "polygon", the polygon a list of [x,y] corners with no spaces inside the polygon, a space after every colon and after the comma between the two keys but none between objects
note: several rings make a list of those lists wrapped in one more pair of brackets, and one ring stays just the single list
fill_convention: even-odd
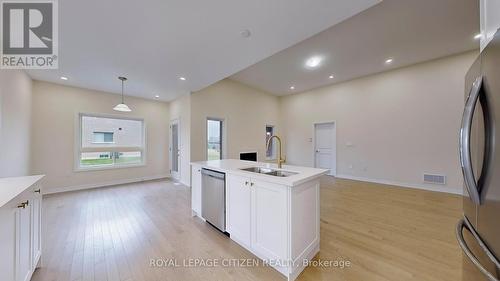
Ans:
[{"label": "white island cabinet door directly beside the dishwasher", "polygon": [[250,248],[250,179],[228,175],[226,190],[227,231],[231,235],[231,239],[246,248]]}]

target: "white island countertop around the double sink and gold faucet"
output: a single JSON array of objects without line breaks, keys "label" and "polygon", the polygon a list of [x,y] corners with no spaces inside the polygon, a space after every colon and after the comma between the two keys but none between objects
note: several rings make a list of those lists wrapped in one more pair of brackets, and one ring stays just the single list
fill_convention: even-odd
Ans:
[{"label": "white island countertop around the double sink and gold faucet", "polygon": [[[192,162],[191,165],[201,166],[203,168],[208,168],[224,173],[237,174],[240,176],[252,177],[266,182],[272,182],[276,184],[282,184],[286,186],[295,186],[301,183],[307,182],[313,178],[320,177],[328,173],[328,170],[317,169],[310,167],[283,165],[281,169],[278,169],[276,164],[273,163],[263,163],[263,162],[252,162],[243,161],[237,159],[223,159],[223,160],[211,160],[211,161],[200,161]],[[250,167],[264,167],[272,168],[277,170],[295,172],[296,175],[291,175],[288,177],[276,177],[265,174],[253,173],[248,171],[242,171],[242,168]]]}]

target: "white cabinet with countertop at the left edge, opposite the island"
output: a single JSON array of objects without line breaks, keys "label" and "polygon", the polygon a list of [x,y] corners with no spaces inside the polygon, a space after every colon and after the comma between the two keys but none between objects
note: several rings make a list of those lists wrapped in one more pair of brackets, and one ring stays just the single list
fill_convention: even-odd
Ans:
[{"label": "white cabinet with countertop at the left edge, opposite the island", "polygon": [[0,275],[28,281],[42,255],[43,176],[0,178]]}]

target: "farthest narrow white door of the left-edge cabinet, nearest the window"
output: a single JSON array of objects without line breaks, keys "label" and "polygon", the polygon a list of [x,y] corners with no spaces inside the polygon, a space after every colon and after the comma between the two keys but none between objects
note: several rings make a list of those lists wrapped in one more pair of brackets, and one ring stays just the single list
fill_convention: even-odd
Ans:
[{"label": "farthest narrow white door of the left-edge cabinet, nearest the window", "polygon": [[31,205],[31,269],[34,271],[42,254],[42,198],[35,195]]}]

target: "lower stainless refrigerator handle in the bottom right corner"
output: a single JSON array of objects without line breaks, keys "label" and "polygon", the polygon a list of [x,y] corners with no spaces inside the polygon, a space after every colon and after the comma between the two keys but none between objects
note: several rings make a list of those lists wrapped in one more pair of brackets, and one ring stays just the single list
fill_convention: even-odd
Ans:
[{"label": "lower stainless refrigerator handle in the bottom right corner", "polygon": [[471,223],[469,222],[469,220],[465,216],[463,219],[461,219],[458,222],[457,228],[456,228],[456,236],[457,236],[457,240],[458,240],[458,245],[460,245],[460,248],[462,248],[462,251],[467,256],[467,258],[477,267],[477,269],[479,269],[479,271],[481,271],[481,273],[483,273],[488,278],[489,281],[499,281],[497,277],[493,276],[493,274],[491,274],[491,272],[489,272],[479,262],[479,260],[476,258],[476,256],[474,256],[472,251],[467,246],[467,243],[465,242],[464,235],[462,232],[464,228],[466,228],[472,234],[472,236],[474,236],[474,239],[477,241],[477,243],[479,244],[481,249],[486,253],[488,258],[495,264],[495,266],[497,268],[500,268],[500,262],[497,260],[495,255],[493,255],[493,253],[490,251],[490,249],[488,249],[488,246],[486,246],[486,244],[484,244],[483,240],[481,240],[481,238],[479,237],[477,232],[474,230],[474,227],[471,225]]}]

